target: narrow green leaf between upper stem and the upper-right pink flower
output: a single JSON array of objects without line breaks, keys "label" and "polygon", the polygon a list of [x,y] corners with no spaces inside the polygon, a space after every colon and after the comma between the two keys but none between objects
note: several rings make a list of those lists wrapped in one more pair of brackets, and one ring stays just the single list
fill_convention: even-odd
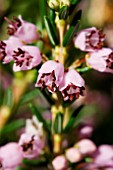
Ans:
[{"label": "narrow green leaf between upper stem and the upper-right pink flower", "polygon": [[70,26],[69,30],[66,32],[66,35],[64,36],[63,46],[67,46],[71,43],[71,41],[73,40],[74,36],[77,33],[79,25],[80,25],[79,22],[77,22],[75,26]]}]

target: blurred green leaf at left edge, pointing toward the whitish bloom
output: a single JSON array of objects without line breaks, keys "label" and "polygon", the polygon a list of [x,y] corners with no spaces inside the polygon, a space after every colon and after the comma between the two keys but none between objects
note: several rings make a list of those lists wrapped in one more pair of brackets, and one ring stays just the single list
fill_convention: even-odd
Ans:
[{"label": "blurred green leaf at left edge, pointing toward the whitish bloom", "polygon": [[15,120],[13,122],[8,123],[5,127],[0,131],[1,135],[6,135],[8,133],[12,133],[13,131],[23,127],[25,125],[25,120]]}]

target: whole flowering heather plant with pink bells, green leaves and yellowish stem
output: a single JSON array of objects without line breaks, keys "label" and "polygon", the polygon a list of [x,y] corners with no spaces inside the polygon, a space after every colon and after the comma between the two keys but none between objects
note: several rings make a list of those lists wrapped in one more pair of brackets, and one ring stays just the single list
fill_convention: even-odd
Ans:
[{"label": "whole flowering heather plant with pink bells, green leaves and yellowish stem", "polygon": [[[44,118],[31,101],[29,107],[35,116],[26,119],[24,132],[17,142],[0,148],[1,169],[13,170],[18,166],[24,169],[33,159],[38,161],[37,166],[42,163],[47,169],[55,170],[113,168],[113,147],[97,148],[89,139],[92,127],[83,130],[83,138],[73,136],[70,142],[70,130],[77,129],[83,109],[83,105],[75,110],[71,107],[85,96],[83,74],[91,69],[113,73],[113,50],[104,47],[105,34],[101,29],[80,30],[82,11],[77,11],[78,3],[78,0],[48,0],[48,15],[43,16],[45,28],[40,31],[21,15],[13,20],[5,17],[9,38],[0,41],[0,60],[3,64],[11,62],[14,72],[25,73],[20,79],[24,90],[32,80],[28,80],[28,71],[37,71],[34,88],[41,89],[50,103],[51,116],[48,123],[48,118]],[[38,42],[43,43],[43,48]],[[81,52],[80,56],[76,50]],[[22,93],[23,89],[19,95]],[[17,103],[19,99],[14,101]],[[1,116],[1,130],[11,116],[11,112],[8,113]],[[106,148],[108,157],[103,156]]]}]

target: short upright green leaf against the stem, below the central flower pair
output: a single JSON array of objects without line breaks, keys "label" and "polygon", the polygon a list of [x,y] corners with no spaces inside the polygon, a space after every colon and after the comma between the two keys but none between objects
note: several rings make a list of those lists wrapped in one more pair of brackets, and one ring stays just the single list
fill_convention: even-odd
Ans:
[{"label": "short upright green leaf against the stem, below the central flower pair", "polygon": [[53,125],[53,130],[56,134],[61,134],[63,129],[63,115],[62,113],[57,113]]}]

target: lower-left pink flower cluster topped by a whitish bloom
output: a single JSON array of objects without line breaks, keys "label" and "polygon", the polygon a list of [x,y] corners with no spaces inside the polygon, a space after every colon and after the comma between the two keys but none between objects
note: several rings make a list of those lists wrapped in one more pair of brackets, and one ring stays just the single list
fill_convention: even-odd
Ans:
[{"label": "lower-left pink flower cluster topped by a whitish bloom", "polygon": [[42,123],[33,116],[32,119],[26,120],[24,131],[18,143],[10,142],[0,148],[0,168],[15,170],[24,158],[40,156],[44,147]]}]

